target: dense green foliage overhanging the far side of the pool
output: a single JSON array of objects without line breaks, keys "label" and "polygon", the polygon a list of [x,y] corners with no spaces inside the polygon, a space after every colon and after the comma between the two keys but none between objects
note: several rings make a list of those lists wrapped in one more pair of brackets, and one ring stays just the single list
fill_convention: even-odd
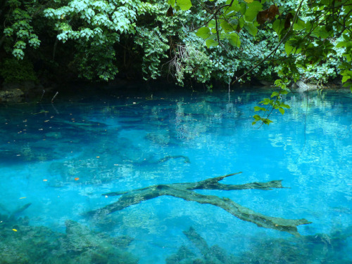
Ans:
[{"label": "dense green foliage overhanging the far side of the pool", "polygon": [[352,77],[349,0],[8,0],[0,22],[5,83]]}]

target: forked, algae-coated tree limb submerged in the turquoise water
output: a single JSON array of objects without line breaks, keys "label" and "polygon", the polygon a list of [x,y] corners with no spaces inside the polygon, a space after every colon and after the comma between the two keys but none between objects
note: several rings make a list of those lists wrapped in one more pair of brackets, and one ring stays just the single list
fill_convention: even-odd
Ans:
[{"label": "forked, algae-coated tree limb submerged in the turquoise water", "polygon": [[227,185],[218,183],[220,180],[233,176],[238,173],[228,174],[217,178],[209,178],[196,183],[173,183],[170,185],[153,185],[142,189],[131,190],[127,192],[110,192],[103,194],[106,196],[122,195],[117,202],[104,206],[101,209],[88,212],[89,216],[98,217],[120,211],[139,204],[140,202],[168,195],[172,197],[182,198],[186,201],[198,202],[199,204],[213,204],[218,206],[228,213],[231,213],[237,218],[255,223],[259,227],[275,229],[279,231],[289,232],[292,235],[299,235],[297,231],[298,225],[306,225],[310,222],[306,219],[284,219],[271,216],[265,216],[248,209],[240,204],[233,202],[229,198],[218,197],[214,195],[205,195],[194,192],[194,190],[245,190],[245,189],[258,189],[258,190],[272,190],[272,188],[282,187],[281,180],[272,180],[267,183],[246,183],[244,185]]}]

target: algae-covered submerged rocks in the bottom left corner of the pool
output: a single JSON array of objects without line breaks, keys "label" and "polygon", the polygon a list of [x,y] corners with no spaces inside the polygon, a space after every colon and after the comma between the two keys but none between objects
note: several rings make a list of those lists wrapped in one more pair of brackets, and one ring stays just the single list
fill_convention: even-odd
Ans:
[{"label": "algae-covered submerged rocks in the bottom left corner of the pool", "polygon": [[[6,218],[6,216],[0,216]],[[31,226],[22,218],[0,224],[1,264],[137,264],[125,248],[129,237],[93,232],[72,220],[66,234]]]}]

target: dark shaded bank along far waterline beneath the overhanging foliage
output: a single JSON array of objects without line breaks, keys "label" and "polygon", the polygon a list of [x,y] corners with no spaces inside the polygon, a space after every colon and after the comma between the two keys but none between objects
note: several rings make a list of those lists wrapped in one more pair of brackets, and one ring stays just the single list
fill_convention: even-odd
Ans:
[{"label": "dark shaded bank along far waterline beneath the overhanging foliage", "polygon": [[[210,88],[210,86],[212,88]],[[277,90],[270,82],[262,82],[253,79],[248,84],[234,84],[230,86],[230,91],[246,90],[249,87]],[[306,84],[298,81],[292,84],[291,92],[304,93],[306,91],[321,91],[322,89],[348,89],[341,87],[341,81],[336,79],[325,86],[316,84]],[[349,89],[348,89],[349,90]],[[178,91],[199,91],[211,93],[213,91],[229,91],[229,86],[220,81],[214,81],[213,84],[199,84],[189,81],[184,86],[178,86],[172,80],[158,79],[144,81],[142,79],[115,79],[106,82],[91,82],[82,80],[62,79],[61,81],[45,81],[39,84],[35,81],[25,81],[20,84],[2,84],[0,86],[0,103],[49,103],[59,100],[59,98],[68,99],[72,95],[84,95],[85,98],[92,96],[94,98],[100,95],[143,95],[149,97],[153,93],[165,91],[168,93]]]}]

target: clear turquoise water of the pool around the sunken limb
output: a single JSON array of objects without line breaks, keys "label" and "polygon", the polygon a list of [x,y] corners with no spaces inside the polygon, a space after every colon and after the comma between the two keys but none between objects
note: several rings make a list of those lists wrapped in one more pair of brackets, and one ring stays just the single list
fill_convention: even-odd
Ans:
[{"label": "clear turquoise water of the pool around the sunken limb", "polygon": [[[124,250],[141,264],[166,259],[350,263],[352,95],[291,93],[284,98],[291,110],[284,115],[274,111],[270,126],[252,126],[253,107],[270,93],[239,89],[230,95],[187,90],[127,94],[106,89],[98,94],[59,94],[54,104],[44,98],[42,103],[1,105],[0,234],[13,242],[8,251],[19,250],[15,245],[23,236],[33,245],[39,227],[47,227],[54,237],[65,235],[67,220],[73,220],[109,237],[130,237]],[[118,200],[102,195],[108,192],[240,171],[222,183],[283,180],[288,188],[196,192],[230,198],[266,216],[305,218],[312,223],[298,226],[301,237],[239,220],[217,206],[169,196],[100,218],[86,214]],[[36,228],[21,231],[28,226]],[[213,251],[201,253],[184,234],[190,227],[208,246],[217,245],[222,255],[232,254],[234,259],[209,260],[205,255]],[[36,239],[41,236],[45,237],[42,231]],[[46,250],[46,242],[35,245],[46,256],[60,247],[54,251]],[[182,245],[194,256],[175,260]],[[1,242],[0,249],[6,249]],[[73,251],[67,249],[70,256],[83,252]],[[11,254],[15,252],[7,252],[7,262],[0,258],[0,263],[20,263],[11,262]],[[28,259],[27,263],[41,263]]]}]

